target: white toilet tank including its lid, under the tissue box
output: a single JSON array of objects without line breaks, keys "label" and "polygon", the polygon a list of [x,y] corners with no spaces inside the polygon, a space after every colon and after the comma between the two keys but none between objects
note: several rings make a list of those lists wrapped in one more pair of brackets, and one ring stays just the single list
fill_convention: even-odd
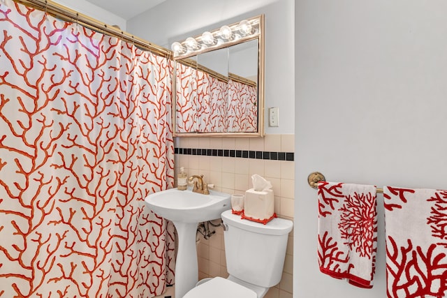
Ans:
[{"label": "white toilet tank including its lid, under the tissue box", "polygon": [[226,230],[226,267],[236,278],[270,288],[281,281],[288,233],[293,222],[274,218],[266,225],[256,223],[231,213],[221,214]]}]

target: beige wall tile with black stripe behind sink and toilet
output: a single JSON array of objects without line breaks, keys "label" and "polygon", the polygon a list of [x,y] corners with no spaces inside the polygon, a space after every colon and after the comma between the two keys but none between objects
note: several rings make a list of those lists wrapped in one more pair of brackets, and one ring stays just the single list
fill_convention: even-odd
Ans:
[{"label": "beige wall tile with black stripe behind sink and toilet", "polygon": [[[251,175],[259,174],[272,183],[274,211],[293,220],[295,191],[294,135],[265,137],[176,137],[175,180],[180,167],[188,175],[203,174],[207,184],[225,193],[244,193],[251,188]],[[293,232],[289,234],[284,272],[279,285],[265,298],[291,298],[293,279]],[[223,230],[216,228],[210,239],[198,242],[199,279],[226,278]]]}]

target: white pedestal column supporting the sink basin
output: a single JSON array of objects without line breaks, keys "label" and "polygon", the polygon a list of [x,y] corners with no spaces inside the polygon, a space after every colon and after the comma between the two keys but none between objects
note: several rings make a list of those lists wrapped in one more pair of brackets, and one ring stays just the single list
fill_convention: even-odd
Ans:
[{"label": "white pedestal column supporting the sink basin", "polygon": [[198,223],[173,221],[177,229],[178,251],[175,260],[175,298],[182,298],[198,282],[196,232]]}]

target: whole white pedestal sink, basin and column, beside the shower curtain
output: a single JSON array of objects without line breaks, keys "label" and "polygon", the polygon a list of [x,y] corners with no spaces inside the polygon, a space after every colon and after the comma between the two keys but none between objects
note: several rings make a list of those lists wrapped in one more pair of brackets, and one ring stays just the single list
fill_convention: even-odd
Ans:
[{"label": "whole white pedestal sink, basin and column, beside the shower curtain", "polygon": [[230,209],[230,195],[218,191],[203,195],[193,193],[190,188],[186,191],[171,188],[148,195],[145,202],[155,214],[173,221],[177,229],[175,298],[182,298],[198,282],[197,225],[220,218],[223,211]]}]

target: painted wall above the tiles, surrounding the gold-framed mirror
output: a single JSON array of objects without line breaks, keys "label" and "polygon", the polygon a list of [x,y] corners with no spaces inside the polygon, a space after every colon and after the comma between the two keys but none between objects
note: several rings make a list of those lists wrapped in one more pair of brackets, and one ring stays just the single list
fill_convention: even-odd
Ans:
[{"label": "painted wall above the tiles, surrounding the gold-framed mirror", "polygon": [[[294,133],[293,0],[166,0],[127,22],[135,36],[170,48],[170,44],[265,14],[265,110],[279,107],[279,127],[265,133]],[[210,28],[211,25],[211,28]],[[266,114],[265,114],[266,115]],[[267,118],[267,117],[266,117]]]}]

